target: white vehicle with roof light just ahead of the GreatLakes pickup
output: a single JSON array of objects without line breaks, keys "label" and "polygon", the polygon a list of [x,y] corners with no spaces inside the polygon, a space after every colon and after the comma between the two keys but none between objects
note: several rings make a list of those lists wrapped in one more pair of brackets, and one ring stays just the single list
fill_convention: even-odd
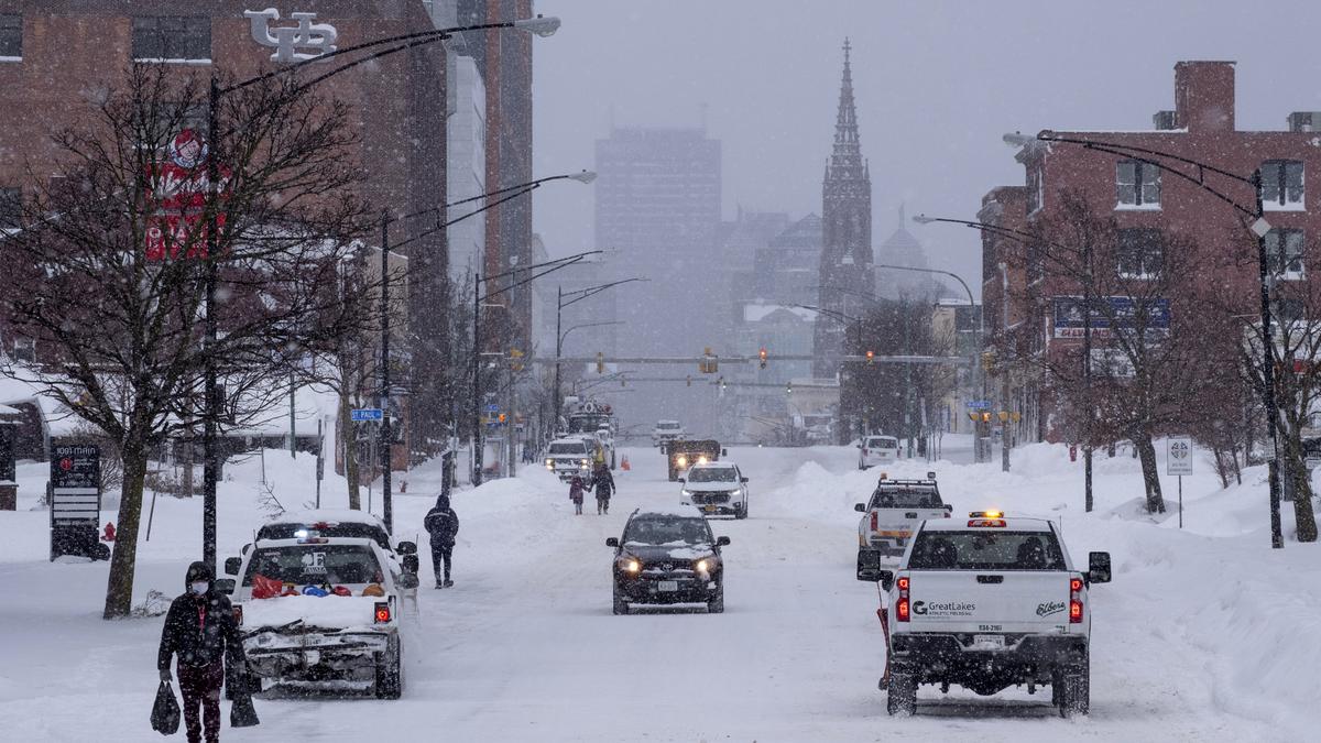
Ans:
[{"label": "white vehicle with roof light just ahead of the GreatLakes pickup", "polygon": [[884,472],[865,504],[853,510],[863,514],[857,522],[857,570],[878,570],[882,561],[896,561],[904,554],[917,525],[927,518],[948,518],[952,506],[941,500],[935,472],[926,480],[890,480]]}]

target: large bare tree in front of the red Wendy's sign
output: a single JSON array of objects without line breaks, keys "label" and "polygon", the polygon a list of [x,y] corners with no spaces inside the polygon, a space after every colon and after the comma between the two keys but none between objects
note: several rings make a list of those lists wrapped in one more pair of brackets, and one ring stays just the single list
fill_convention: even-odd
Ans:
[{"label": "large bare tree in front of the red Wendy's sign", "polygon": [[[45,362],[7,373],[37,383],[123,456],[107,619],[131,609],[149,448],[206,409],[207,362],[223,381],[217,424],[238,426],[284,398],[291,357],[353,331],[358,320],[322,287],[366,227],[345,104],[284,77],[231,91],[207,152],[181,134],[203,106],[196,78],[135,65],[120,81],[89,102],[86,123],[53,135],[58,177],[29,173],[20,229],[0,241],[8,320]],[[210,182],[207,157],[221,182]],[[209,271],[221,333],[207,345]]]}]

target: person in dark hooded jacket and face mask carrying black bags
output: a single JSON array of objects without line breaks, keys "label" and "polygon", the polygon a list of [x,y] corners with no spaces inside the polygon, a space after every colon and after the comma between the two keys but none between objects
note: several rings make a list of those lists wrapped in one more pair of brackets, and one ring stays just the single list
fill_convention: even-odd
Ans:
[{"label": "person in dark hooded jacket and face mask carrying black bags", "polygon": [[[221,686],[225,664],[234,678],[247,678],[243,639],[234,621],[230,598],[215,590],[215,574],[205,562],[188,566],[186,591],[165,613],[156,661],[161,681],[170,681],[170,658],[178,656],[178,689],[184,695],[184,724],[189,743],[201,743],[205,718],[206,740],[221,739]],[[238,673],[234,673],[238,672]],[[201,714],[198,711],[201,706]]]}]

